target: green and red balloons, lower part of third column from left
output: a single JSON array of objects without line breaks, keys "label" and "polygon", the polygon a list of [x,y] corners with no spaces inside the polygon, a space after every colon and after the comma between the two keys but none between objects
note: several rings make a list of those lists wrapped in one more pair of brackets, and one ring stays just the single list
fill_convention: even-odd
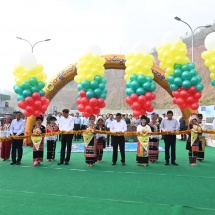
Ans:
[{"label": "green and red balloons, lower part of third column from left", "polygon": [[126,102],[131,106],[135,117],[154,110],[152,100],[156,96],[152,92],[155,91],[156,84],[151,76],[132,74],[126,82],[126,88]]}]

